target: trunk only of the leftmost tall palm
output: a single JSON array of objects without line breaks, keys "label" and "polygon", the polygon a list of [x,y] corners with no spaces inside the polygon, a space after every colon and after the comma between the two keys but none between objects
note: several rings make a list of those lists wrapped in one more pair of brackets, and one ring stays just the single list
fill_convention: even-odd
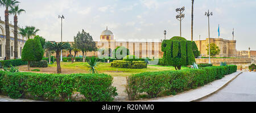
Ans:
[{"label": "trunk only of the leftmost tall palm", "polygon": [[5,54],[6,60],[11,59],[10,54],[10,27],[9,27],[9,11],[8,9],[5,10],[5,36],[6,36],[6,45],[5,45]]}]

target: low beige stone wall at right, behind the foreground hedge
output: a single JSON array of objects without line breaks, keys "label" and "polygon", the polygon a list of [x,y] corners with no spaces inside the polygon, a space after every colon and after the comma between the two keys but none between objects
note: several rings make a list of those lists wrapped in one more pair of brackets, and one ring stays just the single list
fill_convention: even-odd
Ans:
[{"label": "low beige stone wall at right, behind the foreground hedge", "polygon": [[[253,62],[251,58],[212,58],[210,62],[214,66],[220,66],[221,62],[227,62],[229,65],[236,65],[237,69],[249,69],[250,64]],[[208,58],[196,59],[197,64],[207,64],[209,63]]]}]

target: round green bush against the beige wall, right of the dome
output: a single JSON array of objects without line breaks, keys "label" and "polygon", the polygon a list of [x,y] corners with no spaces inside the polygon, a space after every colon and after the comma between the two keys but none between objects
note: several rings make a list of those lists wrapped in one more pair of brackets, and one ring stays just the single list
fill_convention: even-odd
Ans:
[{"label": "round green bush against the beige wall, right of the dome", "polygon": [[125,56],[130,55],[129,49],[123,46],[118,46],[114,51],[113,51],[113,57],[116,59],[123,59]]}]

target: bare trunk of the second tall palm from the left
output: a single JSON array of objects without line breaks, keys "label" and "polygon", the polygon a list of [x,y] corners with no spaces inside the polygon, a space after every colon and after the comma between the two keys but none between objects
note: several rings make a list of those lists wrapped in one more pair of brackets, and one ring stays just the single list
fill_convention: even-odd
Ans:
[{"label": "bare trunk of the second tall palm from the left", "polygon": [[14,59],[18,59],[18,17],[14,16]]}]

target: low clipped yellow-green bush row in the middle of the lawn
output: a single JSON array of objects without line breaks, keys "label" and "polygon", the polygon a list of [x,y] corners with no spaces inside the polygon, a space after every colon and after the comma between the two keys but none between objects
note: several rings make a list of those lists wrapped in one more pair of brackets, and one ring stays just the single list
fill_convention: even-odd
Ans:
[{"label": "low clipped yellow-green bush row in the middle of the lawn", "polygon": [[114,60],[111,63],[111,67],[117,68],[147,68],[147,64],[143,61],[123,61],[123,60]]}]

